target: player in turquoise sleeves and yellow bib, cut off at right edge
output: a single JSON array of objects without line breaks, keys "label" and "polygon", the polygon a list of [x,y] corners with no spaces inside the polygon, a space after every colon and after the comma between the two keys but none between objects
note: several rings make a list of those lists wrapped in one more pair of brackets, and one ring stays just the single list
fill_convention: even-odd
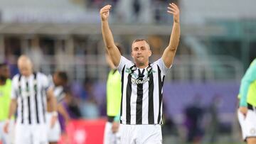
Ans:
[{"label": "player in turquoise sleeves and yellow bib, cut off at right edge", "polygon": [[238,98],[238,120],[242,128],[242,138],[248,144],[256,143],[256,59],[242,77]]}]

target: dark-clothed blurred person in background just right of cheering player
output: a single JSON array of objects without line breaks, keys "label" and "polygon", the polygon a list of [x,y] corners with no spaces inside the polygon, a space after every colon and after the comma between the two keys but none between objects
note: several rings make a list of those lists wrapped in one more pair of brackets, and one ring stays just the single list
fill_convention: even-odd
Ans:
[{"label": "dark-clothed blurred person in background just right of cheering player", "polygon": [[193,103],[185,109],[185,126],[187,129],[186,140],[188,143],[200,143],[203,136],[201,121],[203,108],[201,107],[201,95],[196,95]]}]

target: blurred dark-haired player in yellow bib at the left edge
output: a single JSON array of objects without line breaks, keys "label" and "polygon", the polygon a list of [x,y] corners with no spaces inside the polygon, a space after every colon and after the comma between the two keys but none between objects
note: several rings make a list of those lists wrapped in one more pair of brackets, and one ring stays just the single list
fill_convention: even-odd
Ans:
[{"label": "blurred dark-haired player in yellow bib at the left edge", "polygon": [[11,79],[9,67],[6,63],[0,64],[0,141],[3,144],[11,143],[11,134],[4,133],[4,123],[8,121],[9,105],[11,102]]}]

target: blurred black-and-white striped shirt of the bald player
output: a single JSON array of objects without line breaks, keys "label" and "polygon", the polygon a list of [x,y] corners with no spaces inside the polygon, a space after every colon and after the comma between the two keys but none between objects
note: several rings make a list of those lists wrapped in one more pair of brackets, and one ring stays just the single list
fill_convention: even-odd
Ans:
[{"label": "blurred black-and-white striped shirt of the bald player", "polygon": [[29,77],[16,74],[13,78],[11,99],[17,99],[17,123],[46,123],[46,91],[48,78],[40,72]]}]

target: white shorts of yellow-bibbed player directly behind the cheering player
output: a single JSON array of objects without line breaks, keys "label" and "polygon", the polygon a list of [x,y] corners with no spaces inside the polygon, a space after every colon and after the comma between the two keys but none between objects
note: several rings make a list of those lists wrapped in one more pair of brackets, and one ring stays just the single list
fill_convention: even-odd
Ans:
[{"label": "white shorts of yellow-bibbed player directly behind the cheering player", "polygon": [[108,122],[105,125],[104,131],[104,144],[119,144],[120,143],[120,133],[112,133],[112,123]]}]

